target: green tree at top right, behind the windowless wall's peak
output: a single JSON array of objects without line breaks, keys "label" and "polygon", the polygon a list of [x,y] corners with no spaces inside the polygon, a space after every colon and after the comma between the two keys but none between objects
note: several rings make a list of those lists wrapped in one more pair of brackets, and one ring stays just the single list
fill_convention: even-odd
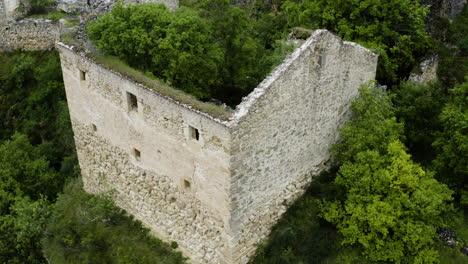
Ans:
[{"label": "green tree at top right, behind the windowless wall's peak", "polygon": [[326,28],[375,49],[383,84],[407,76],[429,47],[428,8],[418,0],[290,0],[282,8],[290,26]]}]

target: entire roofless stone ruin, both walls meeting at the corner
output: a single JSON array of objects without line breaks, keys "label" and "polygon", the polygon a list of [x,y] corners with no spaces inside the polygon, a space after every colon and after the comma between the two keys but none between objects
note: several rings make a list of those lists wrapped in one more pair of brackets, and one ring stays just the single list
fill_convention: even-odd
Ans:
[{"label": "entire roofless stone ruin, both walls meeting at the corner", "polygon": [[194,263],[247,263],[327,167],[377,55],[317,30],[227,120],[57,44],[84,187]]}]

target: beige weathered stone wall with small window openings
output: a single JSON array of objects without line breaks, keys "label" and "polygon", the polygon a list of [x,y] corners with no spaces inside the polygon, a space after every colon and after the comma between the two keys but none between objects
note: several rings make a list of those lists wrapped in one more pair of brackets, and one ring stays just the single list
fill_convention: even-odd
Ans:
[{"label": "beige weathered stone wall with small window openings", "polygon": [[[157,236],[177,241],[195,263],[224,263],[227,127],[57,47],[85,189],[114,190],[119,206]],[[136,108],[127,93],[136,96]],[[198,129],[198,140],[189,126]]]}]

